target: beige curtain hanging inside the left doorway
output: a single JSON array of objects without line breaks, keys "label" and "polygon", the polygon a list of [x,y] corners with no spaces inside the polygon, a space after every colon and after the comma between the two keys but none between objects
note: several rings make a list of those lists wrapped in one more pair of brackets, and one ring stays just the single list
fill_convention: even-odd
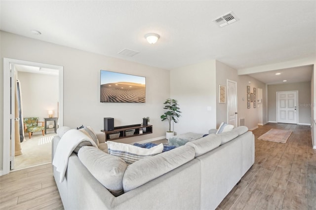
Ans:
[{"label": "beige curtain hanging inside the left doorway", "polygon": [[21,83],[18,79],[15,80],[14,96],[14,116],[15,118],[19,118],[19,120],[14,120],[14,155],[17,156],[22,155],[21,142],[24,140]]}]

